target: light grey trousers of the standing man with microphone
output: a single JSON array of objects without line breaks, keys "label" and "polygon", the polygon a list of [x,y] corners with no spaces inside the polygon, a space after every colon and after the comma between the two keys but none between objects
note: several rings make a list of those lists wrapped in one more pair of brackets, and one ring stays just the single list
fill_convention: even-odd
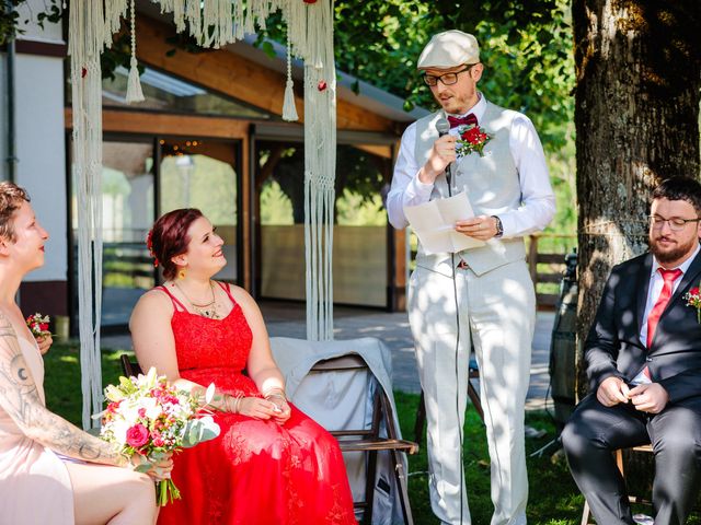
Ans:
[{"label": "light grey trousers of the standing man with microphone", "polygon": [[409,316],[426,401],[434,513],[444,523],[471,523],[461,441],[473,343],[491,458],[491,523],[525,524],[524,409],[536,320],[536,294],[526,262],[510,262],[481,276],[469,268],[456,269],[455,281],[449,264],[418,267],[410,280]]}]

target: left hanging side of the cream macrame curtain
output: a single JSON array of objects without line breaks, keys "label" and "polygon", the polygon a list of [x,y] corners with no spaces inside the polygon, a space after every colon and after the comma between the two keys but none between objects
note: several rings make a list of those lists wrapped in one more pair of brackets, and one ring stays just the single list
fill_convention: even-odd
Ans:
[{"label": "left hanging side of the cream macrame curtain", "polygon": [[[100,313],[102,308],[102,71],[105,31],[123,5],[73,0],[68,52],[71,66],[73,172],[78,198],[78,323],[83,395],[82,424],[102,410]],[[107,23],[105,23],[107,21]]]}]

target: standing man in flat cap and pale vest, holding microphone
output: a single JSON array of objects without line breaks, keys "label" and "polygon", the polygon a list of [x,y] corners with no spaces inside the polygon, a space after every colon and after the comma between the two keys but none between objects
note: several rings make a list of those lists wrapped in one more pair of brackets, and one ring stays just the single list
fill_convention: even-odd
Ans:
[{"label": "standing man in flat cap and pale vest, holding microphone", "polygon": [[[555,199],[531,121],[478,91],[484,66],[474,36],[460,31],[435,35],[417,68],[440,109],[412,124],[402,137],[388,195],[390,222],[403,229],[409,225],[405,207],[464,192],[474,217],[458,221],[455,230],[484,242],[456,254],[428,255],[420,246],[409,285],[428,421],[432,508],[443,523],[471,523],[461,429],[473,347],[490,446],[492,525],[525,524],[524,406],[536,295],[524,235],[548,225]],[[446,118],[451,129],[439,136],[436,125]]]}]

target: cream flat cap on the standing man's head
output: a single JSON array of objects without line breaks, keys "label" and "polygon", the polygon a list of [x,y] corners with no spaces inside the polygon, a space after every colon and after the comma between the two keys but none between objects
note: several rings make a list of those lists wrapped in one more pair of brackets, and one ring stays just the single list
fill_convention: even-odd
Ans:
[{"label": "cream flat cap on the standing man's head", "polygon": [[447,69],[479,61],[478,39],[469,33],[450,30],[432,36],[418,57],[416,69]]}]

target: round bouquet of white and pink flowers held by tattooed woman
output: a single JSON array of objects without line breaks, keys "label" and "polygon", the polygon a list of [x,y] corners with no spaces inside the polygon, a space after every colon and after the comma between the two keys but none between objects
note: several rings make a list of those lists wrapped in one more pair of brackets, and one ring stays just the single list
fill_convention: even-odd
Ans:
[{"label": "round bouquet of white and pink flowers held by tattooed woman", "polygon": [[[214,397],[209,385],[205,401]],[[105,388],[107,408],[94,416],[102,418],[100,438],[112,443],[127,457],[139,454],[146,462],[136,470],[146,472],[151,463],[168,453],[176,453],[219,435],[219,425],[200,410],[197,398],[168,384],[151,368],[147,375],[119,377],[119,385]],[[171,479],[157,483],[157,502],[164,506],[180,499]]]}]

